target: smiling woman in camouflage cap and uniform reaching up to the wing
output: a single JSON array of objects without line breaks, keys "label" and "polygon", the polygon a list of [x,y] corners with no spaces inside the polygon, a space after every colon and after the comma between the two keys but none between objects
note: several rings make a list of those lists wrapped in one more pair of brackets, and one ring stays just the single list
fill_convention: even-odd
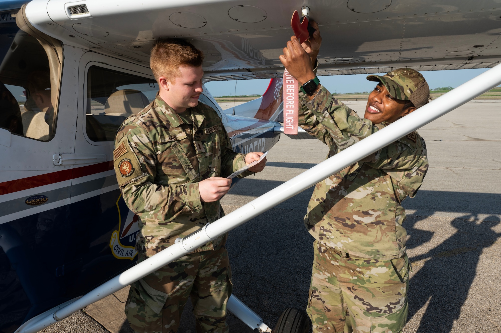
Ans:
[{"label": "smiling woman in camouflage cap and uniform reaching up to the wing", "polygon": [[[302,49],[311,55],[313,45],[309,41],[298,47],[294,38],[284,49],[289,54],[282,62],[303,84],[315,77],[312,63],[312,73],[301,69],[308,67],[308,54]],[[315,58],[316,54],[311,56]],[[369,96],[365,118],[322,85],[310,96],[301,93],[299,124],[329,146],[327,157],[428,101],[428,85],[413,69],[367,78],[379,84]],[[315,237],[307,306],[314,332],[397,333],[402,329],[408,313],[410,263],[401,202],[407,195],[416,195],[427,169],[424,140],[412,132],[316,185],[305,216],[306,227]]]}]

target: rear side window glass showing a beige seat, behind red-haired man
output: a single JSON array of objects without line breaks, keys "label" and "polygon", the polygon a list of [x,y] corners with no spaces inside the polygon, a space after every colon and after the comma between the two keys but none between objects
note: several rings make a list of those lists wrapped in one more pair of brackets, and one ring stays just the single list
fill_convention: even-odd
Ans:
[{"label": "rear side window glass showing a beige seat, behind red-haired man", "polygon": [[154,79],[91,66],[87,74],[87,136],[93,141],[114,141],[122,122],[148,106],[157,91]]}]

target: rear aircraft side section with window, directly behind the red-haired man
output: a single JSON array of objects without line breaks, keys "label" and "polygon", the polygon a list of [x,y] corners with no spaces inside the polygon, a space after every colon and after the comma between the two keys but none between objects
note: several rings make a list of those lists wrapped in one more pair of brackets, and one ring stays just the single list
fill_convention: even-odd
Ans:
[{"label": "rear aircraft side section with window, directly behind the red-haired man", "polygon": [[158,85],[149,68],[94,52],[81,58],[79,77],[75,154],[96,158],[75,168],[72,184],[71,218],[82,225],[86,251],[78,284],[87,290],[136,259],[137,216],[118,189],[114,140],[122,122],[155,99]]}]

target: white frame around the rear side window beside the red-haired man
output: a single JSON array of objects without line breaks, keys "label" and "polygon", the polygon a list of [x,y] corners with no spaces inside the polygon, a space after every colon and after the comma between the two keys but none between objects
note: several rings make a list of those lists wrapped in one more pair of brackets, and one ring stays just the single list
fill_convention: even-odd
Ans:
[{"label": "white frame around the rear side window beside the red-haired man", "polygon": [[[108,58],[110,59],[110,58]],[[114,58],[113,58],[114,59]],[[117,59],[120,61],[120,59]],[[82,109],[82,116],[84,117],[84,121],[82,121],[82,126],[79,127],[82,129],[82,132],[84,134],[84,137],[85,137],[85,140],[92,144],[92,145],[114,145],[115,144],[115,140],[113,141],[93,141],[91,140],[91,138],[87,135],[87,130],[86,130],[86,124],[87,124],[87,92],[88,92],[88,88],[89,88],[89,69],[90,67],[92,66],[97,66],[97,67],[100,67],[100,68],[104,68],[104,69],[111,69],[111,70],[115,70],[115,71],[119,71],[119,72],[122,72],[122,73],[126,73],[126,74],[130,74],[132,76],[139,76],[139,77],[144,77],[144,78],[150,78],[154,81],[155,80],[155,77],[153,76],[153,74],[151,75],[148,75],[144,72],[140,72],[140,71],[135,71],[135,70],[132,70],[132,69],[126,69],[126,68],[123,68],[123,67],[118,67],[118,66],[114,66],[114,65],[110,65],[108,63],[105,63],[105,62],[102,62],[102,61],[97,61],[97,60],[90,60],[86,63],[85,65],[85,70],[84,70],[84,89],[83,89],[83,109]],[[144,67],[145,70],[150,70],[149,68],[147,67]]]}]

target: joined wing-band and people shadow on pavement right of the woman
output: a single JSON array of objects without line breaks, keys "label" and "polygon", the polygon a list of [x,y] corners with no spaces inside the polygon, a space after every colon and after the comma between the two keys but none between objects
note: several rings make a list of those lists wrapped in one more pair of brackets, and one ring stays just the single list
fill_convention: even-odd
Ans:
[{"label": "joined wing-band and people shadow on pavement right of the woman", "polygon": [[411,257],[413,262],[427,260],[410,279],[407,320],[429,301],[416,332],[449,332],[466,301],[483,249],[501,237],[492,230],[501,221],[501,194],[421,190],[416,198],[403,201],[403,206],[416,209],[404,222],[412,235],[407,249],[429,241],[434,234],[415,228],[422,218],[436,211],[464,213],[450,222],[457,229],[454,234],[427,253]]}]

